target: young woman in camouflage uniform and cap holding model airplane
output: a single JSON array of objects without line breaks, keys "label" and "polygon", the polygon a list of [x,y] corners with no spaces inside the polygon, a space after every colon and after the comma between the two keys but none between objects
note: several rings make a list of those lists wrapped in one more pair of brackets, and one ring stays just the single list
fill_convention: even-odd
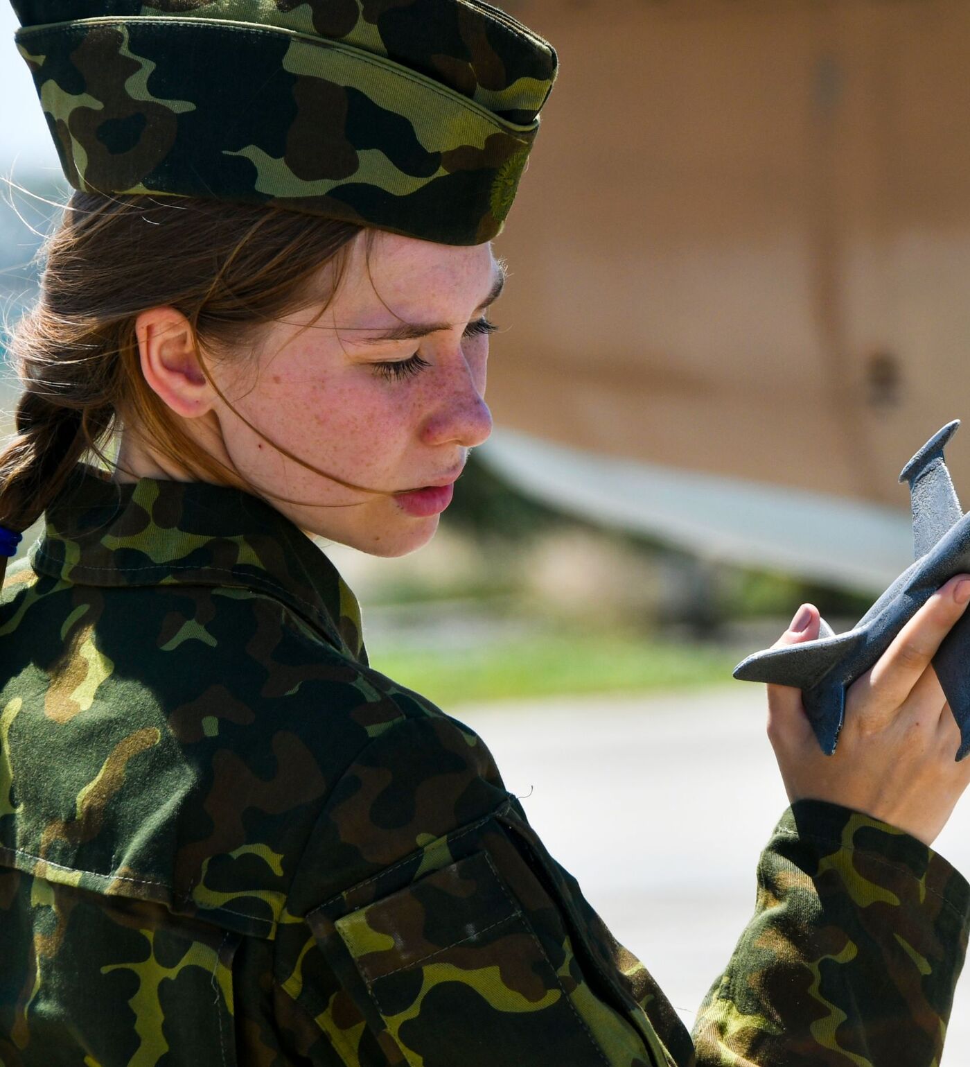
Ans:
[{"label": "young woman in camouflage uniform and cap holding model airplane", "polygon": [[488,436],[489,241],[548,45],[465,0],[21,6],[97,191],[12,337],[0,521],[46,524],[0,604],[0,1063],[937,1064],[970,887],[928,846],[970,768],[929,664],[967,576],[836,755],[771,690],[793,803],[689,1035],[483,742],[369,667],[308,536],[419,547]]}]

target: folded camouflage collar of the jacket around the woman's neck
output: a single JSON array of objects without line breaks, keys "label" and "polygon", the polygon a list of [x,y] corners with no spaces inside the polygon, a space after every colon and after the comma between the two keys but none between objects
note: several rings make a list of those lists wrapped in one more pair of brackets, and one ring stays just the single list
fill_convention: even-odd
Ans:
[{"label": "folded camouflage collar of the jacket around the woman's neck", "polygon": [[236,586],[281,601],[367,663],[353,592],[321,550],[259,497],[201,481],[113,482],[75,467],[31,551],[35,571],[84,586]]}]

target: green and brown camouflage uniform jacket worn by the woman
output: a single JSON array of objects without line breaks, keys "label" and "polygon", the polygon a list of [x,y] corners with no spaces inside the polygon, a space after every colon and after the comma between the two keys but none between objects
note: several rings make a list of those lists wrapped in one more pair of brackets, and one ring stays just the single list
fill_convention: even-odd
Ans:
[{"label": "green and brown camouflage uniform jacket worn by the woman", "polygon": [[912,838],[786,812],[691,1036],[289,520],[84,465],[47,519],[0,607],[3,1067],[937,1064],[970,890]]}]

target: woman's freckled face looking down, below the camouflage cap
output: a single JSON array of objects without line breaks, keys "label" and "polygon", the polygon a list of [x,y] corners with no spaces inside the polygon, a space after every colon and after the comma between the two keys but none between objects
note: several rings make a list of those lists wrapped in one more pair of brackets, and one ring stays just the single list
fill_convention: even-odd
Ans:
[{"label": "woman's freckled face looking down, below the camouflage cap", "polygon": [[245,419],[325,474],[289,459],[216,398],[229,462],[309,532],[378,556],[425,544],[468,450],[491,431],[483,320],[502,276],[490,244],[382,232],[368,256],[359,235],[313,325],[301,331],[320,305],[274,322],[255,366],[209,361]]}]

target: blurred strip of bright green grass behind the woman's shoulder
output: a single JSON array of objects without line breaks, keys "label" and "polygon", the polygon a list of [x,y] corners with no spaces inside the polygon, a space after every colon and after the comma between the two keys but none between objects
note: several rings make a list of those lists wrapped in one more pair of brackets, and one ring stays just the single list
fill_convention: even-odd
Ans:
[{"label": "blurred strip of bright green grass behind the woman's shoulder", "polygon": [[460,702],[728,682],[738,656],[623,635],[543,634],[462,651],[374,649],[372,666],[446,710]]}]

